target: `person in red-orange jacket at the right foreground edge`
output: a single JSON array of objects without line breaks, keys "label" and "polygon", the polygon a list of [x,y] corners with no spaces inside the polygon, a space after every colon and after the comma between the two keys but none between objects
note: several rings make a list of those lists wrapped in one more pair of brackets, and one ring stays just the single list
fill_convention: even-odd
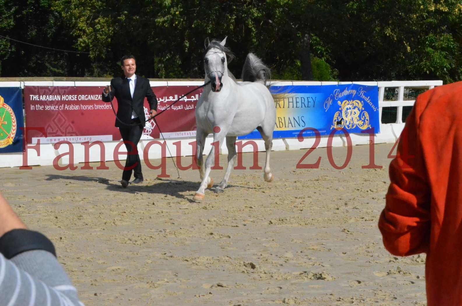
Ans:
[{"label": "person in red-orange jacket at the right foreground edge", "polygon": [[393,255],[425,252],[428,306],[462,305],[462,82],[420,94],[389,166],[378,227]]}]

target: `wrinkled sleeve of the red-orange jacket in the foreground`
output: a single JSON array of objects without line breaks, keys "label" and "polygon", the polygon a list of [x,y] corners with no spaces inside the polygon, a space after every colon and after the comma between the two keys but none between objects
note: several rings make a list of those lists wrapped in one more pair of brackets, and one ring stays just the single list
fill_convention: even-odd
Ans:
[{"label": "wrinkled sleeve of the red-orange jacket in the foreground", "polygon": [[383,245],[397,256],[425,252],[430,239],[431,194],[418,132],[418,100],[389,166],[390,185],[378,222]]}]

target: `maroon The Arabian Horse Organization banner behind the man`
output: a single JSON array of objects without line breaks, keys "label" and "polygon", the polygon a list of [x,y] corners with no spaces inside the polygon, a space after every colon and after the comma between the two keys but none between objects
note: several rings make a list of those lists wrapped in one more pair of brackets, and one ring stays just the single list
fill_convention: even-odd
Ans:
[{"label": "maroon The Arabian Horse Organization banner behind the man", "polygon": [[[158,113],[195,87],[152,87],[158,98]],[[102,92],[102,86],[25,86],[27,143],[35,144],[37,140],[40,143],[121,140],[119,129],[114,126],[114,111],[110,103],[101,100]],[[202,88],[190,93],[156,117],[165,138],[195,136],[194,111],[201,93]],[[116,99],[112,104],[117,112]],[[146,99],[145,116],[149,118]],[[146,122],[142,139],[159,137],[159,129],[154,120]]]}]

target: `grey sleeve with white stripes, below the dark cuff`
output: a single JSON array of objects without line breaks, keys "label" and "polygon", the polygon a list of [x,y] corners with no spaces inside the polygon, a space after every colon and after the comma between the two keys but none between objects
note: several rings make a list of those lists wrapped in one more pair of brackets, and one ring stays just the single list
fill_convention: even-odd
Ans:
[{"label": "grey sleeve with white stripes, below the dark cuff", "polygon": [[0,254],[0,305],[83,306],[60,263],[42,250],[11,260]]}]

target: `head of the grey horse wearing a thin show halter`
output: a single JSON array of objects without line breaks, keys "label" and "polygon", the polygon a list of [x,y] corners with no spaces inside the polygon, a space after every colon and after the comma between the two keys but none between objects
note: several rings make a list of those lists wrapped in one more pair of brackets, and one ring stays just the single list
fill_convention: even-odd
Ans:
[{"label": "head of the grey horse wearing a thin show halter", "polygon": [[226,55],[232,56],[231,51],[225,47],[226,37],[223,41],[212,40],[207,43],[204,55],[204,69],[206,78],[210,79],[213,92],[219,92],[223,87],[222,78],[228,73]]}]

